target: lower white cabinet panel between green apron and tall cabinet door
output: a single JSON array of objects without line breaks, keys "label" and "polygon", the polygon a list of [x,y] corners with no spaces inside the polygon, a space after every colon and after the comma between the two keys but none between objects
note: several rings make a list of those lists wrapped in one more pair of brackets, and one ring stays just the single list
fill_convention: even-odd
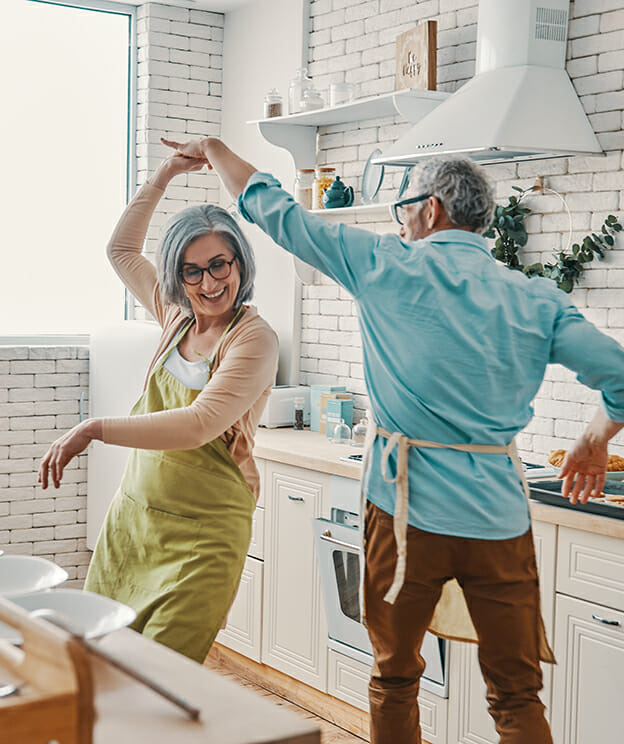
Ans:
[{"label": "lower white cabinet panel between green apron and tall cabinet door", "polygon": [[217,642],[260,661],[262,643],[262,561],[247,557],[238,593]]}]

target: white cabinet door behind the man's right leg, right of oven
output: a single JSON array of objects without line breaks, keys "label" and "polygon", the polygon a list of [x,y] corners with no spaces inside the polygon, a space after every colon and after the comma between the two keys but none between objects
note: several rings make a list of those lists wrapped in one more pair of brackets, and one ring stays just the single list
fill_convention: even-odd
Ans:
[{"label": "white cabinet door behind the man's right leg, right of oven", "polygon": [[[549,640],[553,637],[556,535],[555,525],[544,522],[533,524],[542,617]],[[498,734],[487,709],[485,682],[479,667],[477,646],[472,643],[452,643],[450,667],[449,741],[458,744],[496,744]],[[550,718],[552,665],[542,664],[542,672],[544,689],[541,698],[546,705],[546,715]]]}]

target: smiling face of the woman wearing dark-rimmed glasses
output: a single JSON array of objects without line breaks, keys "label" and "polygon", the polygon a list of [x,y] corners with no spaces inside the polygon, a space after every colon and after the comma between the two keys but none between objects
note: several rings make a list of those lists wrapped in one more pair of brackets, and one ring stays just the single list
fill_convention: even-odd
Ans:
[{"label": "smiling face of the woman wearing dark-rimmed glasses", "polygon": [[[183,269],[207,269],[220,267],[234,259],[234,253],[227,241],[216,234],[202,235],[189,243],[184,252]],[[217,272],[218,273],[218,272]],[[230,275],[225,279],[215,279],[207,271],[202,274],[199,284],[184,284],[186,295],[191,303],[195,317],[230,320],[234,301],[240,287],[238,261],[231,264]]]}]

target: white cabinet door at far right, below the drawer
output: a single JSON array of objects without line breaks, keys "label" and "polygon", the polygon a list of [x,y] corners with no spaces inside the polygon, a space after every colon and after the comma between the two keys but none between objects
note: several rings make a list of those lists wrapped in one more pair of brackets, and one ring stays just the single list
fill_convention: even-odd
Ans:
[{"label": "white cabinet door at far right, below the drawer", "polygon": [[624,613],[564,595],[556,613],[553,738],[621,744]]}]

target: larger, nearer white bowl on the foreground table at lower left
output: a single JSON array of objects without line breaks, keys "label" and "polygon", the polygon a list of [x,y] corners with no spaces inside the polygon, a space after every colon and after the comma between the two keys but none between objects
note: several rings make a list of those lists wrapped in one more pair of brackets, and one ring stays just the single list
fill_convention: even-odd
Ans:
[{"label": "larger, nearer white bowl on the foreground table at lower left", "polygon": [[[12,597],[11,601],[29,612],[54,610],[65,616],[85,638],[99,638],[125,628],[136,617],[131,607],[80,589],[50,589]],[[0,640],[19,645],[22,637],[14,628],[0,623]]]}]

